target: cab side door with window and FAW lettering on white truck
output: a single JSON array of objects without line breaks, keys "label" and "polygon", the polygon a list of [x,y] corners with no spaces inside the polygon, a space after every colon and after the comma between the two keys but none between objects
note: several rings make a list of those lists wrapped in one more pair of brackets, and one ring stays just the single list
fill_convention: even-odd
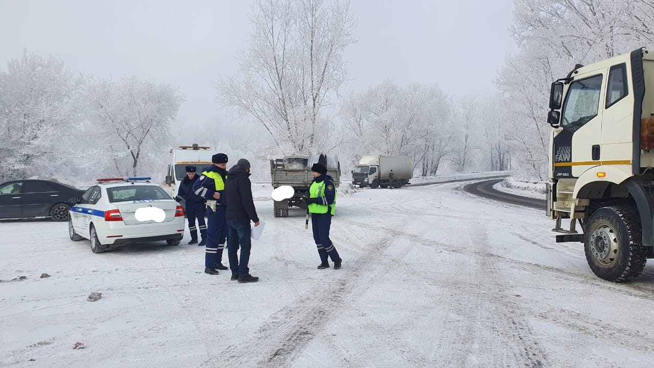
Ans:
[{"label": "cab side door with window and FAW lettering on white truck", "polygon": [[568,86],[561,128],[554,137],[554,177],[579,177],[600,164],[602,139],[602,81],[606,68],[576,75]]}]

